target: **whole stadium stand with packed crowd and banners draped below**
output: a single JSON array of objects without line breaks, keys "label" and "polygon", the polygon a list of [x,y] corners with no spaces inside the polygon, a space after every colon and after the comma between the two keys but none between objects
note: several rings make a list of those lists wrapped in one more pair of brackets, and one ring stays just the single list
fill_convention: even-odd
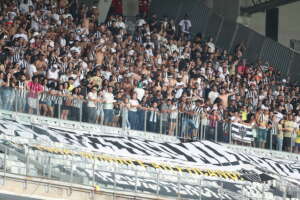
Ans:
[{"label": "whole stadium stand with packed crowd and banners draped below", "polygon": [[130,32],[74,3],[0,4],[4,172],[170,198],[299,197],[287,153],[300,147],[299,86],[247,63],[243,43],[231,53],[193,35],[188,15],[138,16]]}]

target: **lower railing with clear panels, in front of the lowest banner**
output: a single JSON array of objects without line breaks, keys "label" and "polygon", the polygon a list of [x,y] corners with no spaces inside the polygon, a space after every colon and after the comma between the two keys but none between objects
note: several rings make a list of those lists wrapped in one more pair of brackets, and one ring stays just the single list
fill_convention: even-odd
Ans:
[{"label": "lower railing with clear panels, in front of the lowest banner", "polygon": [[[299,188],[284,181],[269,183],[227,182],[186,173],[139,170],[78,156],[55,155],[4,141],[0,144],[0,171],[69,182],[114,192],[150,194],[176,199],[275,199],[300,198]],[[240,188],[233,191],[233,188]],[[276,196],[273,195],[276,193]],[[231,199],[229,198],[229,199]]]}]

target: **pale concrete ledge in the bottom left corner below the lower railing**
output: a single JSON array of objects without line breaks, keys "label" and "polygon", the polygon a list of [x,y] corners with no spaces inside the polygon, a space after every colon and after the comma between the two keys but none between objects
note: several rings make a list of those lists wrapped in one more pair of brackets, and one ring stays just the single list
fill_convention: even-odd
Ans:
[{"label": "pale concrete ledge in the bottom left corner below the lower railing", "polygon": [[[99,188],[0,172],[0,194],[43,200],[157,200],[157,196]],[[0,195],[0,199],[1,198]],[[7,199],[8,200],[8,199]]]}]

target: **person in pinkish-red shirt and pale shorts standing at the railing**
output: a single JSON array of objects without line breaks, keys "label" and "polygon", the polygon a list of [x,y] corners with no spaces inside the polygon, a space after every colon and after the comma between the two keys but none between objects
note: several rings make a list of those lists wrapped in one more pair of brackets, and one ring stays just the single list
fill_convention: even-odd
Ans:
[{"label": "person in pinkish-red shirt and pale shorts standing at the railing", "polygon": [[27,90],[29,90],[28,95],[28,106],[29,114],[33,113],[33,110],[38,109],[38,96],[41,92],[44,91],[43,86],[39,83],[38,76],[33,76],[32,81],[27,84]]}]

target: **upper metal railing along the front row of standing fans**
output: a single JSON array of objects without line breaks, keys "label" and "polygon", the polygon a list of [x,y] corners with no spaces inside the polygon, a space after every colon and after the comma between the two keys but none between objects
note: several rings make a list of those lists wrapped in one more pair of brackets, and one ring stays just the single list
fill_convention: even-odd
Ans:
[{"label": "upper metal railing along the front row of standing fans", "polygon": [[295,138],[283,149],[282,139],[275,135],[272,128],[264,130],[263,141],[258,137],[257,127],[229,120],[213,120],[209,114],[190,115],[171,109],[160,112],[158,109],[140,107],[128,109],[116,104],[113,109],[105,109],[103,103],[89,107],[88,101],[75,96],[56,96],[42,93],[31,98],[26,90],[0,88],[0,109],[17,113],[29,113],[63,120],[86,122],[124,130],[152,132],[173,136],[183,141],[210,140],[220,143],[270,150],[293,151]]}]

